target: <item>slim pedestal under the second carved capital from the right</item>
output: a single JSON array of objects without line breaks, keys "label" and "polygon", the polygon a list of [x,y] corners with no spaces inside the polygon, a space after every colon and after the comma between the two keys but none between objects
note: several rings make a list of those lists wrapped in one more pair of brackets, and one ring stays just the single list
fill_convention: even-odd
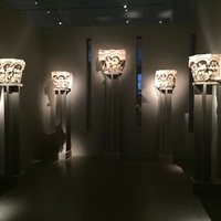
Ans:
[{"label": "slim pedestal under the second carved capital from the right", "polygon": [[172,162],[171,148],[171,97],[172,90],[159,90],[159,152],[158,161]]}]

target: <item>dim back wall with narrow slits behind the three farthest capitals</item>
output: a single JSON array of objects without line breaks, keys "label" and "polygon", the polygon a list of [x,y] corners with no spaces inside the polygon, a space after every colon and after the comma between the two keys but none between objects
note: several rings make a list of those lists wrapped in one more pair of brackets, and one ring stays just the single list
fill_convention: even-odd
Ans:
[{"label": "dim back wall with narrow slits behind the three farthest capitals", "polygon": [[[120,149],[125,158],[155,158],[158,152],[158,91],[154,86],[159,69],[178,71],[172,94],[172,150],[175,158],[190,158],[187,146],[189,92],[189,48],[193,24],[124,25],[99,28],[51,29],[44,31],[46,57],[44,85],[50,72],[64,70],[74,73],[69,94],[72,113],[73,155],[102,156],[105,150],[105,82],[96,71],[99,49],[125,49],[126,67],[120,76]],[[136,38],[143,38],[143,113],[141,131],[136,130]],[[86,131],[86,39],[92,40],[92,130]],[[53,98],[53,96],[51,97]],[[46,95],[44,113],[49,115]],[[50,107],[52,108],[52,107]],[[48,119],[51,117],[46,117]],[[44,125],[50,131],[48,119]]]}]

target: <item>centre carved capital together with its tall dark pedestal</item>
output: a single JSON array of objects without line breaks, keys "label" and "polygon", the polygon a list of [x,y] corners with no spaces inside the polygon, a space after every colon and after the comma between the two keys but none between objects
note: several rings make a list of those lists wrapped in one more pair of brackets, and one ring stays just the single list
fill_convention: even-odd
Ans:
[{"label": "centre carved capital together with its tall dark pedestal", "polygon": [[98,60],[102,73],[106,78],[105,123],[106,123],[106,158],[120,158],[119,144],[119,77],[126,62],[125,50],[99,50]]}]

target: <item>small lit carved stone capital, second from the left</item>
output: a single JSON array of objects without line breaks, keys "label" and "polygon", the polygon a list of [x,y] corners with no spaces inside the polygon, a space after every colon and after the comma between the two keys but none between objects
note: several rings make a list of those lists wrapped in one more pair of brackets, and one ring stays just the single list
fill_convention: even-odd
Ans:
[{"label": "small lit carved stone capital, second from the left", "polygon": [[72,87],[72,73],[70,72],[52,72],[52,81],[54,87],[57,90],[71,90]]}]

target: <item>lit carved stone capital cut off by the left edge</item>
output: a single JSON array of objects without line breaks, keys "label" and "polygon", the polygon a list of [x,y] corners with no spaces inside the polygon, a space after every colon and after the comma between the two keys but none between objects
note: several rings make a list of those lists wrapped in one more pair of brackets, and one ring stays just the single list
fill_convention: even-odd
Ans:
[{"label": "lit carved stone capital cut off by the left edge", "polygon": [[0,84],[20,84],[25,62],[18,59],[0,59]]}]

